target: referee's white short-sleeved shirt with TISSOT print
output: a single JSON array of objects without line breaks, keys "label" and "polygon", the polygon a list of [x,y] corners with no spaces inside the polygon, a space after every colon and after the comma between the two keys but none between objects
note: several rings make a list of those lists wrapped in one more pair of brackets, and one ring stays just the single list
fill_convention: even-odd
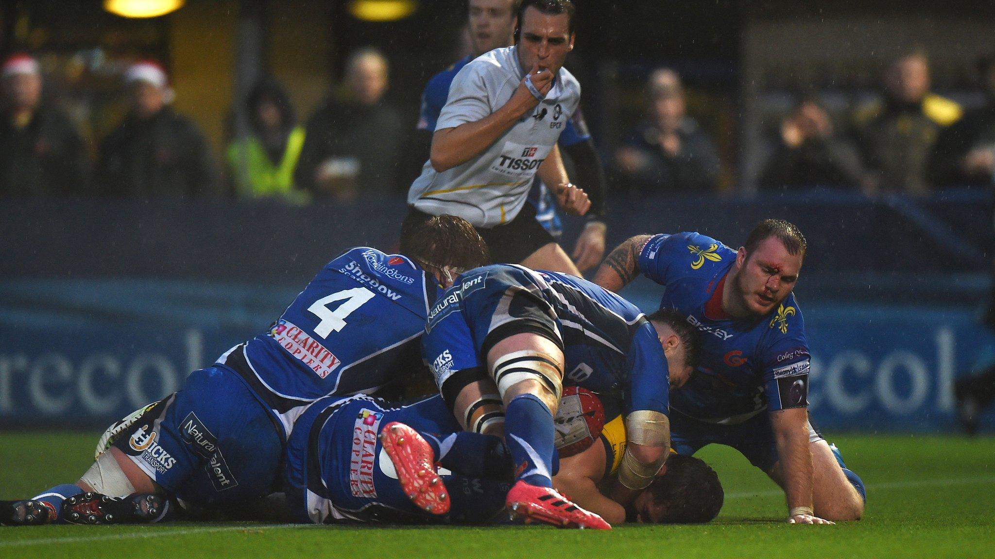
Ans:
[{"label": "referee's white short-sleeved shirt with TISSOT print", "polygon": [[[453,80],[436,130],[476,122],[495,112],[511,98],[525,73],[516,47],[495,49],[471,61]],[[427,214],[459,216],[477,227],[511,221],[528,198],[536,169],[579,102],[580,84],[560,69],[546,98],[486,151],[442,173],[427,161],[408,191],[408,204]]]}]

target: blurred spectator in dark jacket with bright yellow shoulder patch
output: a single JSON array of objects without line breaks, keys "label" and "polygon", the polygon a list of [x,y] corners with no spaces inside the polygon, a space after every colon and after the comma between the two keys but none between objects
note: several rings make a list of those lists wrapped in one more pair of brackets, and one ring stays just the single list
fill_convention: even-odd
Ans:
[{"label": "blurred spectator in dark jacket with bright yellow shoulder patch", "polygon": [[927,164],[940,130],[960,118],[960,105],[929,93],[929,63],[919,51],[896,59],[885,73],[884,103],[857,114],[858,137],[870,170],[870,192],[922,195]]}]

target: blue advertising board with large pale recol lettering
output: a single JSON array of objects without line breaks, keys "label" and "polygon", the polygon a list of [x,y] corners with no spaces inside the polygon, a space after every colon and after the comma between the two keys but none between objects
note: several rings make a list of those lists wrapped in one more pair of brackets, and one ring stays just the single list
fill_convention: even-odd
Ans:
[{"label": "blue advertising board with large pale recol lettering", "polygon": [[[826,429],[952,429],[953,379],[995,353],[995,337],[968,310],[804,310],[813,354],[810,410]],[[0,325],[0,426],[104,427],[178,390],[191,371],[255,333],[137,321]]]}]

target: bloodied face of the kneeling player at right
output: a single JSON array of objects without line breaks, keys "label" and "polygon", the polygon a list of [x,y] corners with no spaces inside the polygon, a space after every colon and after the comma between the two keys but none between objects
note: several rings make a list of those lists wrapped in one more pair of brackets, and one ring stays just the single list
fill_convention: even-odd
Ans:
[{"label": "bloodied face of the kneeling player at right", "polygon": [[766,314],[777,308],[795,288],[802,268],[802,255],[788,254],[776,237],[764,239],[752,253],[743,249],[736,255],[740,265],[734,295],[752,314]]}]

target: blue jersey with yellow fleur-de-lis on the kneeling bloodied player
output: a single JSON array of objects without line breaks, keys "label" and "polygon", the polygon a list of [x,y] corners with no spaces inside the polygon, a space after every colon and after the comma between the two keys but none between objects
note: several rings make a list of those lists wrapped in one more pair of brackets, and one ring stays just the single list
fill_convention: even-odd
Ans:
[{"label": "blue jersey with yellow fleur-de-lis on the kneeling bloodied player", "polygon": [[660,307],[685,314],[702,343],[697,370],[671,395],[671,406],[711,423],[808,406],[810,356],[794,293],[758,318],[705,314],[713,295],[721,300],[719,287],[735,259],[736,251],[698,233],[657,235],[639,257],[639,271],[666,287]]}]

